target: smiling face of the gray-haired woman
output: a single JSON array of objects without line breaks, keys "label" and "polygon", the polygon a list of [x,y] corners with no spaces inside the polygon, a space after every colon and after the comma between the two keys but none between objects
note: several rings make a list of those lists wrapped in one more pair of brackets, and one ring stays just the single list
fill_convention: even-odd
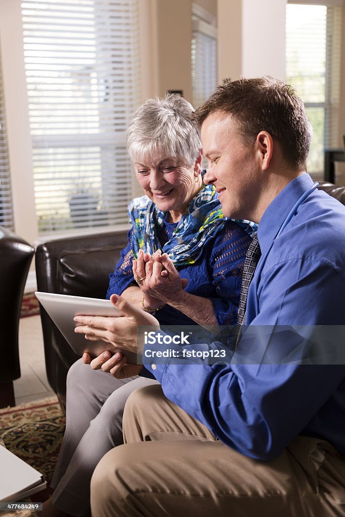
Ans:
[{"label": "smiling face of the gray-haired woman", "polygon": [[145,194],[160,210],[169,211],[173,222],[181,219],[190,200],[200,190],[201,158],[200,153],[191,166],[181,159],[170,157],[150,158],[134,163]]}]

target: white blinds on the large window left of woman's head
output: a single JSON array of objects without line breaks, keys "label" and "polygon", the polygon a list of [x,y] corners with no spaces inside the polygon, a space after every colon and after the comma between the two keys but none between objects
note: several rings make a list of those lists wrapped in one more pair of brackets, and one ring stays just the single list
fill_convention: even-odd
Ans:
[{"label": "white blinds on the large window left of woman's head", "polygon": [[128,222],[138,0],[23,1],[39,233]]}]

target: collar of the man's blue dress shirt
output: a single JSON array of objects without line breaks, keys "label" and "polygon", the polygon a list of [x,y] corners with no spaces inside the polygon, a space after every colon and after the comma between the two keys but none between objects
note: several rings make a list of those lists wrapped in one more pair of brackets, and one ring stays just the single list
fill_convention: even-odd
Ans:
[{"label": "collar of the man's blue dress shirt", "polygon": [[313,180],[309,174],[297,176],[268,205],[258,229],[258,239],[262,254],[268,251],[293,205],[312,185]]}]

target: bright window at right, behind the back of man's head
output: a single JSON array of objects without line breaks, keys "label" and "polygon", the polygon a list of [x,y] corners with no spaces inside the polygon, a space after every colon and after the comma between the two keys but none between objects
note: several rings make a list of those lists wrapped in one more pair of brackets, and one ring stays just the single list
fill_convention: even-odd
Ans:
[{"label": "bright window at right, behind the back of man's head", "polygon": [[286,13],[287,82],[313,127],[308,172],[322,179],[324,149],[339,145],[341,7],[289,3]]}]

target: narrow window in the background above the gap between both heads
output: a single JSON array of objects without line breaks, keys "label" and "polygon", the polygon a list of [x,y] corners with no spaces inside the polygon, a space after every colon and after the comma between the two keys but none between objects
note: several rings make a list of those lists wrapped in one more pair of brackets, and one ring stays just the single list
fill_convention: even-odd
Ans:
[{"label": "narrow window in the background above the gap between both heads", "polygon": [[217,29],[214,17],[192,4],[192,105],[197,109],[217,86]]}]

